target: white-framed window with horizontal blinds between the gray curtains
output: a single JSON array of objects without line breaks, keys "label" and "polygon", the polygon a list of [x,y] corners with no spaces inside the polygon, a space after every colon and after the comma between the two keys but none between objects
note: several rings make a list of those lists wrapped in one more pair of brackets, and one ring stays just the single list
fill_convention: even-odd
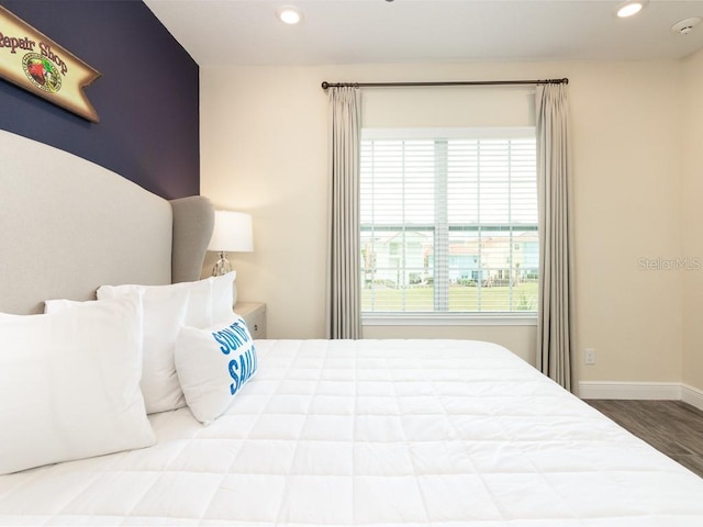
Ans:
[{"label": "white-framed window with horizontal blinds between the gray curtains", "polygon": [[365,130],[365,313],[537,310],[533,128]]}]

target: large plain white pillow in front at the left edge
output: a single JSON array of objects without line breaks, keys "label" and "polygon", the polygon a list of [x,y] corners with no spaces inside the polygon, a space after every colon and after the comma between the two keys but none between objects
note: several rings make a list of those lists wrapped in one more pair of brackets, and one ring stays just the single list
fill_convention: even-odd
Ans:
[{"label": "large plain white pillow in front at the left edge", "polygon": [[136,294],[43,315],[0,314],[0,473],[143,448]]}]

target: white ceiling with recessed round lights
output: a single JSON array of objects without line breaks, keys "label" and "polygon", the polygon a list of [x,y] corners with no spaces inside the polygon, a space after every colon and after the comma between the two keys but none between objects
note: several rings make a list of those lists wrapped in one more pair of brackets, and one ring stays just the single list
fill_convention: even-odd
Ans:
[{"label": "white ceiling with recessed round lights", "polygon": [[[650,0],[631,19],[606,0],[145,0],[201,66],[680,58],[703,48],[703,1]],[[292,4],[304,19],[281,23]]]}]

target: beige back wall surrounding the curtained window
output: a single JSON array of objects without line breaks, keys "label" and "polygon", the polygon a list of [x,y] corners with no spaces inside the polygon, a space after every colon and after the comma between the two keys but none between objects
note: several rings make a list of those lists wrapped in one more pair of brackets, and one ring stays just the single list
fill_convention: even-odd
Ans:
[{"label": "beige back wall surrounding the curtained window", "polygon": [[[680,381],[682,273],[639,269],[682,254],[680,61],[201,68],[201,192],[254,215],[255,253],[234,264],[239,298],[268,304],[269,336],[324,336],[323,80],[553,77],[570,79],[579,379]],[[496,340],[534,358],[534,326],[365,334]],[[581,366],[585,347],[595,366]]]}]

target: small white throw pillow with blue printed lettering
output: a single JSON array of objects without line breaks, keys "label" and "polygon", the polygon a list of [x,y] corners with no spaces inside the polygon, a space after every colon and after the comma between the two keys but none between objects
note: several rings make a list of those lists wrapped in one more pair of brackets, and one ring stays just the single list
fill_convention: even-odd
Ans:
[{"label": "small white throw pillow with blue printed lettering", "polygon": [[181,328],[176,341],[176,369],[192,414],[201,423],[220,417],[256,372],[254,340],[244,318],[208,329]]}]

